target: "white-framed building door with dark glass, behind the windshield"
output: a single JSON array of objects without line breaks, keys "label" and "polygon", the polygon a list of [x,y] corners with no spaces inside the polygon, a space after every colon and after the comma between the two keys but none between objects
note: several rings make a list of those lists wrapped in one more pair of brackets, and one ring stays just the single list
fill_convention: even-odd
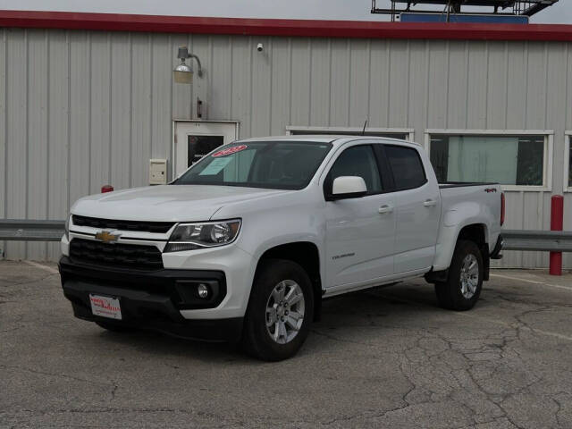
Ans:
[{"label": "white-framed building door with dark glass, behind the windshield", "polygon": [[178,177],[216,147],[236,140],[238,128],[238,122],[175,121],[174,176]]}]

